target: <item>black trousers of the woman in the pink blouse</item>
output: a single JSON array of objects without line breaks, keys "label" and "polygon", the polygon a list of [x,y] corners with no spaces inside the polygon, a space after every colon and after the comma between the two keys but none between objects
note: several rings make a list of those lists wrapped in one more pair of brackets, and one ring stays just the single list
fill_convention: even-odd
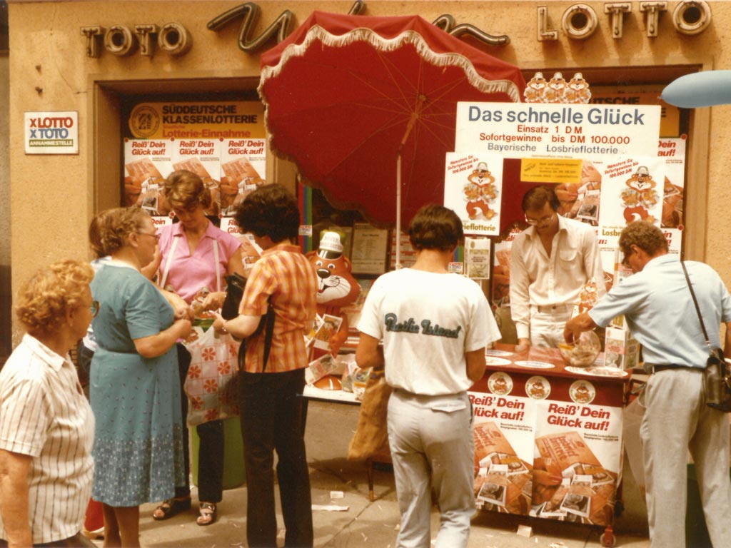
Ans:
[{"label": "black trousers of the woman in the pink blouse", "polygon": [[[185,448],[185,476],[186,483],[190,477],[189,435],[186,417],[188,416],[188,396],[183,390],[188,368],[190,367],[190,353],[186,347],[178,343],[178,373],[181,378],[181,405],[183,411],[183,447]],[[198,500],[202,502],[219,503],[223,498],[224,490],[224,423],[222,421],[204,422],[196,427],[200,446],[198,447]],[[183,498],[190,495],[190,488],[175,486],[175,497]]]}]

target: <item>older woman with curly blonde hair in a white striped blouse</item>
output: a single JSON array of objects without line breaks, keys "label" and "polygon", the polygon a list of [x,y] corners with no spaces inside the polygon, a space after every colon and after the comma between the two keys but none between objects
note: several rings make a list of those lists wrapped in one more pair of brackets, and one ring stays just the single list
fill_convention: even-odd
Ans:
[{"label": "older woman with curly blonde hair in a white striped blouse", "polygon": [[0,546],[94,547],[80,533],[94,415],[69,358],[99,305],[93,277],[88,264],[61,261],[20,290],[27,333],[0,372]]}]

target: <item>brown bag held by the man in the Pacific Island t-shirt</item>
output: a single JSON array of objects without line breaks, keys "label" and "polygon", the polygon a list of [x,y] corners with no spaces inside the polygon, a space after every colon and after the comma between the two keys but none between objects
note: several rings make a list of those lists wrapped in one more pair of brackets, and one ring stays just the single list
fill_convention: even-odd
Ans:
[{"label": "brown bag held by the man in the Pacific Island t-shirt", "polygon": [[391,387],[386,384],[385,377],[371,373],[360,404],[355,435],[348,448],[348,460],[391,462],[386,423],[390,395]]}]

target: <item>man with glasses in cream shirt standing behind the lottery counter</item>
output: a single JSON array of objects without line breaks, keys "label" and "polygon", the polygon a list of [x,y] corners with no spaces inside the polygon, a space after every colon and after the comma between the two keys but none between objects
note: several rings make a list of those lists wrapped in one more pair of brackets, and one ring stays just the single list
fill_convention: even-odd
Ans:
[{"label": "man with glasses in cream shirt standing behind the lottery counter", "polygon": [[519,349],[557,348],[584,284],[593,278],[597,297],[606,292],[594,228],[558,216],[558,205],[547,186],[523,196],[531,226],[515,237],[510,259],[510,313]]}]

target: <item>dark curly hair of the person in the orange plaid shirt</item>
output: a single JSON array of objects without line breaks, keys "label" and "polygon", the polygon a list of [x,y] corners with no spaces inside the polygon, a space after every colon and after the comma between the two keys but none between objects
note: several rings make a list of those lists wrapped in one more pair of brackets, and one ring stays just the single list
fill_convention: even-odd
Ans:
[{"label": "dark curly hair of the person in the orange plaid shirt", "polygon": [[273,243],[296,238],[300,232],[297,200],[279,183],[260,186],[241,202],[235,214],[242,232],[269,236]]}]

